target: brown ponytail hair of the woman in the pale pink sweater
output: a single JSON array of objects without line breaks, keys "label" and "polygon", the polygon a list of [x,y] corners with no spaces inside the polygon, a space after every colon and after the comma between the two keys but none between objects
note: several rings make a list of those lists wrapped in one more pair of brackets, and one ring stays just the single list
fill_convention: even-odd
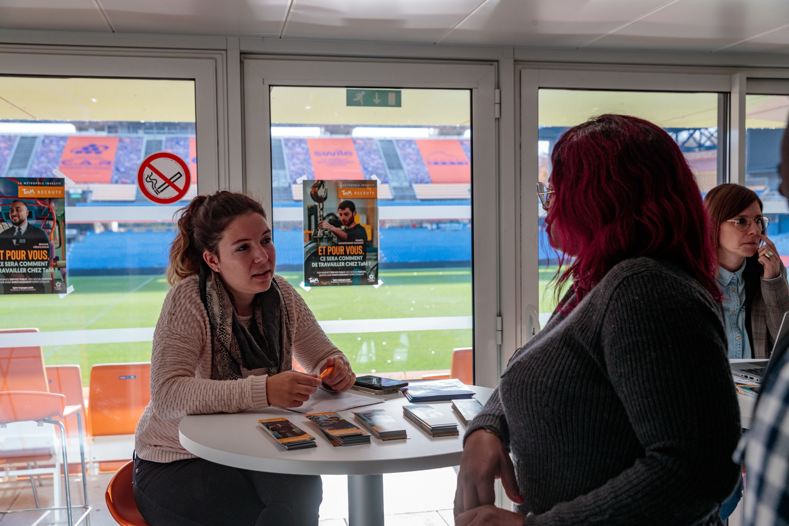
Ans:
[{"label": "brown ponytail hair of the woman in the pale pink sweater", "polygon": [[235,218],[247,214],[266,218],[266,211],[252,197],[227,190],[196,196],[178,212],[181,212],[178,234],[170,244],[170,266],[167,267],[170,285],[200,271],[203,252],[216,253],[225,229]]}]

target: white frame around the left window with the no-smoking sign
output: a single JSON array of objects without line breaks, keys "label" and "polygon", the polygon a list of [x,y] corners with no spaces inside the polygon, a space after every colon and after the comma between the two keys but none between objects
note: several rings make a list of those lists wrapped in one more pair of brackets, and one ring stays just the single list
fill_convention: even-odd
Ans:
[{"label": "white frame around the left window with the no-smoking sign", "polygon": [[232,183],[226,155],[224,57],[222,53],[0,47],[0,75],[194,80],[196,182],[200,193],[208,193]]}]

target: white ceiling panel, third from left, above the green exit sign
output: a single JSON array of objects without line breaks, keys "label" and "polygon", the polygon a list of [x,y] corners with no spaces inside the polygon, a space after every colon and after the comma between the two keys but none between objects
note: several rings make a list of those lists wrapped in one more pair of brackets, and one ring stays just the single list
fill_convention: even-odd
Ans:
[{"label": "white ceiling panel, third from left, above the green exit sign", "polygon": [[484,0],[294,0],[284,37],[434,43]]}]

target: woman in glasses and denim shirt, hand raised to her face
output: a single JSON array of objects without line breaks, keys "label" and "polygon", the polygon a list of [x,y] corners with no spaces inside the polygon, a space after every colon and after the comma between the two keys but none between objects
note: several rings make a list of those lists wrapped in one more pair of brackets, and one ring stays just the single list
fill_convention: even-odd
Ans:
[{"label": "woman in glasses and denim shirt, hand raised to her face", "polygon": [[[769,218],[753,190],[718,185],[704,200],[710,216],[712,246],[717,247],[718,274],[729,358],[769,358],[783,313],[789,311],[787,270],[767,237]],[[739,481],[720,506],[726,520],[742,498]]]}]

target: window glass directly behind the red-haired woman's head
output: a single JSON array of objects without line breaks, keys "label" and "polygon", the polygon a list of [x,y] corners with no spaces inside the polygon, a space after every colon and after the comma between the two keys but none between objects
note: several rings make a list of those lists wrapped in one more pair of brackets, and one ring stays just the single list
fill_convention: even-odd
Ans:
[{"label": "window glass directly behind the red-haired woman's head", "polygon": [[[705,194],[716,185],[719,177],[718,99],[717,93],[540,89],[539,180],[548,183],[551,153],[563,132],[596,115],[625,114],[651,121],[671,135],[694,171],[702,194]],[[544,229],[545,212],[541,207],[539,215],[538,292],[542,326],[556,307],[553,278],[559,270],[559,252],[548,242]]]}]

